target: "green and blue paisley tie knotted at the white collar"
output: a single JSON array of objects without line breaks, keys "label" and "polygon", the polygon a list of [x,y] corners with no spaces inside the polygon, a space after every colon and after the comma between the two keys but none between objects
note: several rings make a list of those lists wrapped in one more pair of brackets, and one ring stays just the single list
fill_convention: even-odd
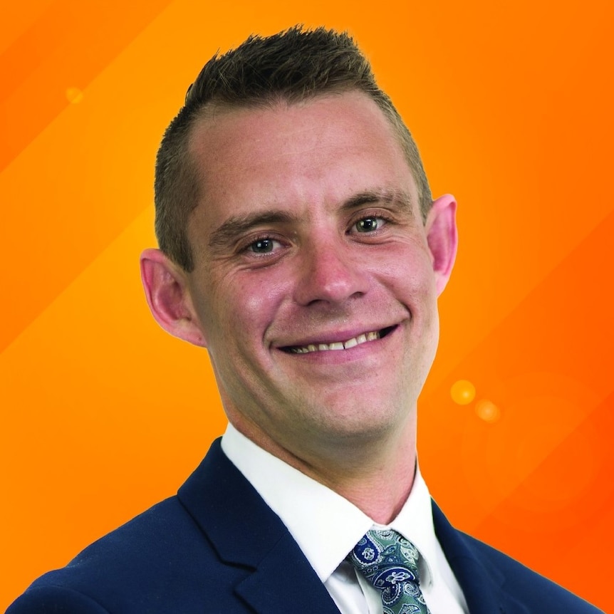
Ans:
[{"label": "green and blue paisley tie knotted at the white collar", "polygon": [[416,546],[396,531],[372,529],[347,560],[380,590],[384,614],[430,614],[419,586],[419,556]]}]

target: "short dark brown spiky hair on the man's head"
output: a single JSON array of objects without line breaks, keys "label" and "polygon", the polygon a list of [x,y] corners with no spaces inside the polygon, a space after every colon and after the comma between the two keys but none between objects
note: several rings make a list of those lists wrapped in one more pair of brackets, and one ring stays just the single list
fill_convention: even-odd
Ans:
[{"label": "short dark brown spiky hair on the man's head", "polygon": [[378,88],[365,56],[347,33],[295,26],[239,47],[204,65],[189,86],[185,105],[170,123],[157,153],[155,231],[160,249],[185,271],[194,269],[187,239],[189,215],[199,201],[199,175],[189,155],[194,123],[214,105],[249,107],[279,100],[296,103],[323,93],[356,90],[370,96],[399,137],[416,182],[425,219],[432,204],[420,154],[390,98]]}]

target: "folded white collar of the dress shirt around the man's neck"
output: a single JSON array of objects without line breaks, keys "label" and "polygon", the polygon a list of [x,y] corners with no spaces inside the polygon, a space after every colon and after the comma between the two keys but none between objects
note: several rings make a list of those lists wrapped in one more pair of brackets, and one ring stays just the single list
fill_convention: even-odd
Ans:
[{"label": "folded white collar of the dress shirt around the man's neck", "polygon": [[[347,499],[294,469],[228,425],[222,450],[279,516],[314,571],[326,582],[365,533],[382,528]],[[422,582],[431,582],[435,529],[430,494],[419,469],[394,529],[420,551]]]}]

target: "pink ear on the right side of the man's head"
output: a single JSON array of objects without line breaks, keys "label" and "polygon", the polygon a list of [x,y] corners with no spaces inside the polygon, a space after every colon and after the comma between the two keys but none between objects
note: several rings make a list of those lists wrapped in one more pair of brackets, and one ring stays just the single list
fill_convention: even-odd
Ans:
[{"label": "pink ear on the right side of the man's head", "polygon": [[432,204],[425,229],[435,271],[437,296],[444,291],[457,254],[456,200],[444,194]]}]

